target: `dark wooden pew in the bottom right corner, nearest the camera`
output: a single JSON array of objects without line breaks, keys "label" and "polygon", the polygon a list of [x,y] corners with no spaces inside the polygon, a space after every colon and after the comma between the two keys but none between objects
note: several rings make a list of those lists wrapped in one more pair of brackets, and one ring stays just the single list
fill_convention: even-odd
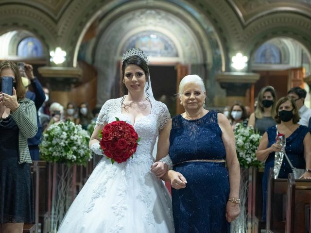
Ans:
[{"label": "dark wooden pew in the bottom right corner, nearest the camera", "polygon": [[286,205],[286,233],[308,233],[310,221],[311,181],[288,177]]}]

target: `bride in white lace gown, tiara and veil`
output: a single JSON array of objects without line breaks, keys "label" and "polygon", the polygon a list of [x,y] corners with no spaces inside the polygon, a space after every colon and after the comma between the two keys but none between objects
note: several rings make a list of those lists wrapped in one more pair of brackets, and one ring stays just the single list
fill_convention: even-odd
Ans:
[{"label": "bride in white lace gown, tiara and veil", "polygon": [[133,158],[121,164],[103,159],[71,204],[58,233],[173,233],[171,197],[150,172],[158,134],[170,119],[165,104],[153,97],[148,60],[139,49],[122,57],[122,92],[107,100],[90,138],[90,149],[103,155],[98,134],[118,117],[133,125],[141,138]]}]

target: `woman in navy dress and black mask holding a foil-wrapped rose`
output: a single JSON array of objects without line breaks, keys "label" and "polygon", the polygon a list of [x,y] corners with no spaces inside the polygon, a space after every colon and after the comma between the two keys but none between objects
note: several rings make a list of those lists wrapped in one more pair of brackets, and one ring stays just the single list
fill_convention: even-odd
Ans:
[{"label": "woman in navy dress and black mask holding a foil-wrapped rose", "polygon": [[[276,132],[282,133],[286,138],[285,153],[296,168],[306,169],[302,179],[311,179],[311,134],[308,127],[297,124],[299,112],[295,101],[290,97],[283,97],[276,103],[274,111],[276,125],[267,129],[263,134],[259,148],[256,152],[259,161],[265,161],[262,180],[263,210],[262,221],[266,219],[267,183],[270,167],[274,167],[275,153],[281,152],[282,147],[276,143]],[[292,172],[287,159],[283,158],[278,178],[287,179]]]}]

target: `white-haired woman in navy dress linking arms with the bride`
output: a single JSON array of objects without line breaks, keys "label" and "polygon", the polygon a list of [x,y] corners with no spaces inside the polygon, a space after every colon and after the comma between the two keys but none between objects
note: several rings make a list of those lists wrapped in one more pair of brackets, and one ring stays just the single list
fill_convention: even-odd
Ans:
[{"label": "white-haired woman in navy dress linking arms with the bride", "polygon": [[203,108],[206,90],[199,76],[182,79],[179,98],[185,112],[164,128],[157,148],[157,160],[169,152],[173,161],[163,179],[173,187],[175,232],[230,232],[230,222],[240,213],[233,131],[225,115]]}]

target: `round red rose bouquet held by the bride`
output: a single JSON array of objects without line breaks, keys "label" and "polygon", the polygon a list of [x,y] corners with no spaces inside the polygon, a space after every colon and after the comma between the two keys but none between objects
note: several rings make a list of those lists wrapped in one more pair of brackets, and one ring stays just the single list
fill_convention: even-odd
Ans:
[{"label": "round red rose bouquet held by the bride", "polygon": [[140,140],[133,126],[117,117],[104,126],[101,137],[100,146],[112,163],[122,163],[133,157]]}]

